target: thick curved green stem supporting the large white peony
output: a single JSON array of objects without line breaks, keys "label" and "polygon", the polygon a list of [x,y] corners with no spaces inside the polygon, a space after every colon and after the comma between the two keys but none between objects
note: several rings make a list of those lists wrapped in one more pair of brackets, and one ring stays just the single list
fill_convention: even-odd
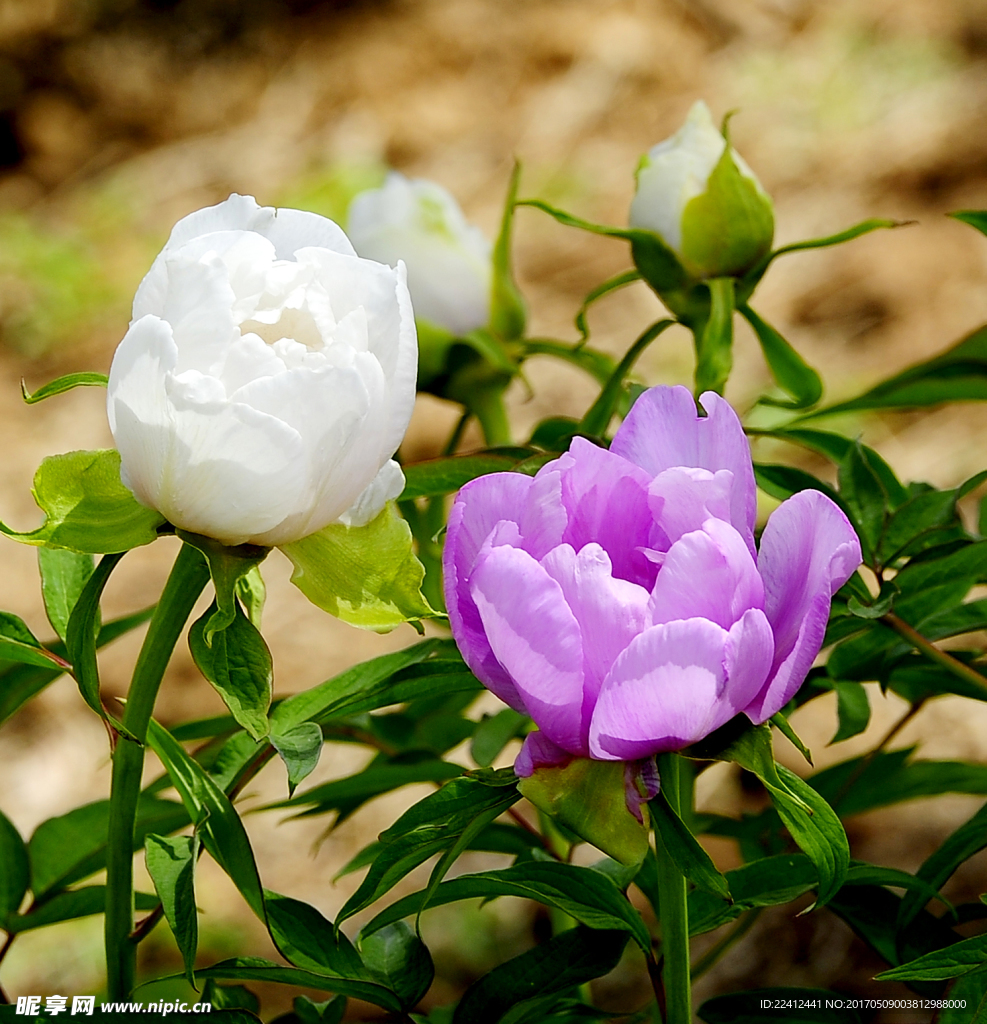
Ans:
[{"label": "thick curved green stem supporting the large white peony", "polygon": [[144,739],[158,688],[182,628],[209,582],[205,557],[182,545],[158,602],[134,668],[123,726],[113,756],[110,822],[106,844],[106,991],[111,999],[128,999],[134,987],[137,946],[134,930],[134,823],[144,767]]}]

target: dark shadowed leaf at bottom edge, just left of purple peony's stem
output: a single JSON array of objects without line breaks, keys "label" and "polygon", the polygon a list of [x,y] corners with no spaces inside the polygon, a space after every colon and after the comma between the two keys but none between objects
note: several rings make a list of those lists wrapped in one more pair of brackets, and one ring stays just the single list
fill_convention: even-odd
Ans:
[{"label": "dark shadowed leaf at bottom edge, just left of purple peony's stem", "polygon": [[[609,974],[620,962],[627,933],[573,928],[509,959],[464,993],[453,1024],[497,1024],[526,999],[565,992]],[[546,1016],[540,1015],[546,1020]]]}]

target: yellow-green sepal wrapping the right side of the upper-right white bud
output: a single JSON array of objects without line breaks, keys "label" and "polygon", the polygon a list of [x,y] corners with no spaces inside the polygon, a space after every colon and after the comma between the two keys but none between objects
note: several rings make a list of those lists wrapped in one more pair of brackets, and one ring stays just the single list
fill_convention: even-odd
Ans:
[{"label": "yellow-green sepal wrapping the right side of the upper-right white bud", "polygon": [[740,173],[727,143],[705,191],[682,211],[682,262],[694,278],[739,278],[767,255],[773,237],[771,200]]}]

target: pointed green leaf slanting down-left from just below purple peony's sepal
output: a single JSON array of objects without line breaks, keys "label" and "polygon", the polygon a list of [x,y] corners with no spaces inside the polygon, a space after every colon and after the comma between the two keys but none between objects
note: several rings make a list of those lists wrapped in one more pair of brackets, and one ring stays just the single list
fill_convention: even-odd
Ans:
[{"label": "pointed green leaf slanting down-left from just below purple peony's sepal", "polygon": [[[513,772],[509,773],[513,782]],[[454,778],[437,793],[410,807],[381,833],[381,849],[356,892],[343,904],[337,925],[380,899],[410,871],[442,851],[454,856],[465,849],[495,818],[515,804],[514,787],[488,785],[478,778]],[[434,891],[452,858],[432,872],[426,896]]]}]

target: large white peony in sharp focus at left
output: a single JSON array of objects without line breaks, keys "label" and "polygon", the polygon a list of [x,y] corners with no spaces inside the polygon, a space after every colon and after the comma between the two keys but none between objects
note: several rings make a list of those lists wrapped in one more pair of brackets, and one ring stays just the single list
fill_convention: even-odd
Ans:
[{"label": "large white peony in sharp focus at left", "polygon": [[397,496],[415,402],[404,267],[250,197],[180,220],[110,370],[124,483],[175,526],[288,544]]}]

